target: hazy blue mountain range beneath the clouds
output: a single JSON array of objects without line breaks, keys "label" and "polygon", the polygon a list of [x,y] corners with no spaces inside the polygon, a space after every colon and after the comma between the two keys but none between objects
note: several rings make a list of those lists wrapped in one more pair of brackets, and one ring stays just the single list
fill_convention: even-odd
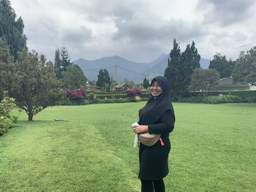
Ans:
[{"label": "hazy blue mountain range beneath the clouds", "polygon": [[[89,80],[97,80],[97,75],[100,69],[107,69],[110,77],[117,82],[124,82],[124,80],[133,82],[143,82],[146,77],[151,80],[157,75],[164,75],[168,64],[169,55],[163,53],[158,58],[148,63],[140,63],[129,61],[120,56],[103,57],[96,60],[86,60],[79,58],[73,61],[74,64],[80,66],[83,73]],[[205,58],[200,59],[200,66],[203,69],[208,68],[210,61]]]}]

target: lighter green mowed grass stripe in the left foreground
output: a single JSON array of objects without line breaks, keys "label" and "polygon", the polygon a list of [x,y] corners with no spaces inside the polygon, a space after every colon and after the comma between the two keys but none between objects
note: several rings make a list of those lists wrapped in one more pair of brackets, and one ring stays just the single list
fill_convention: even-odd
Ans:
[{"label": "lighter green mowed grass stripe in the left foreground", "polygon": [[129,167],[94,126],[21,124],[0,140],[0,191],[139,191]]}]

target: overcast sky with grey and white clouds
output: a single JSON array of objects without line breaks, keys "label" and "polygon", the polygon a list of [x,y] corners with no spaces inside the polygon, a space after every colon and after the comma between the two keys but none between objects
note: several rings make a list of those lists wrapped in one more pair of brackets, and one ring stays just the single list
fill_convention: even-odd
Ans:
[{"label": "overcast sky with grey and white clouds", "polygon": [[202,58],[236,59],[256,45],[255,0],[10,0],[24,20],[30,50],[53,60],[119,55],[148,62],[195,41]]}]

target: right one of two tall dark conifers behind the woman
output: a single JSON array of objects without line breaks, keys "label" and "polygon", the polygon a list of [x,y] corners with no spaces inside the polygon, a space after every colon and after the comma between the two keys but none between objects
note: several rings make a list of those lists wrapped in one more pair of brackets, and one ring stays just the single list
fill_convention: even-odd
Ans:
[{"label": "right one of two tall dark conifers behind the woman", "polygon": [[189,93],[189,83],[193,70],[200,68],[200,55],[197,53],[197,48],[195,48],[195,42],[192,42],[191,46],[187,45],[186,50],[181,54],[180,66],[180,90],[181,96],[185,96]]}]

